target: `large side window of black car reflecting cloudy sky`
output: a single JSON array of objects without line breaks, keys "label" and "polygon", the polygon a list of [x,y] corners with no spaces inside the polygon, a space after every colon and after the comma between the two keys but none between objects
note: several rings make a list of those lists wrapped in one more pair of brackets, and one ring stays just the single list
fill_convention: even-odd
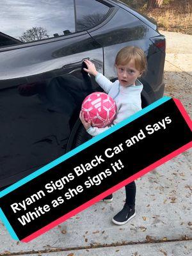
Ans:
[{"label": "large side window of black car reflecting cloudy sky", "polygon": [[1,3],[0,46],[74,32],[74,0],[6,0]]}]

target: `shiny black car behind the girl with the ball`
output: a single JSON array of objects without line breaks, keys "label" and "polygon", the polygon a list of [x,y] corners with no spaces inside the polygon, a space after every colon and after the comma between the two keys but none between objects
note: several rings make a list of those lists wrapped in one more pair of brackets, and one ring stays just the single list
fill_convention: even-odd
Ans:
[{"label": "shiny black car behind the girl with the ball", "polygon": [[115,81],[116,53],[137,45],[148,61],[143,107],[163,96],[164,36],[120,1],[7,0],[0,24],[1,189],[90,139],[79,111],[101,89],[83,60]]}]

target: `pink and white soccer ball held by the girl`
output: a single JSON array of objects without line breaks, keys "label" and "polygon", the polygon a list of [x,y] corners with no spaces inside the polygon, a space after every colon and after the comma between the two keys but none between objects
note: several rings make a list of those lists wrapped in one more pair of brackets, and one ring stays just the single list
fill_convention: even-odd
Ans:
[{"label": "pink and white soccer ball held by the girl", "polygon": [[81,110],[86,122],[91,120],[92,126],[105,127],[115,118],[116,104],[108,94],[93,92],[83,100]]}]

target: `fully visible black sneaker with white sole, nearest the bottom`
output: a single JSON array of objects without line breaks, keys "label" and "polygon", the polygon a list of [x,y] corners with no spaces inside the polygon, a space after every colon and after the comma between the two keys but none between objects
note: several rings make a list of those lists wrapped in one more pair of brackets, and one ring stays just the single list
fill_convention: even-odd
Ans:
[{"label": "fully visible black sneaker with white sole, nearest the bottom", "polygon": [[118,212],[112,219],[116,225],[124,225],[136,215],[134,206],[130,207],[125,204],[122,211]]}]

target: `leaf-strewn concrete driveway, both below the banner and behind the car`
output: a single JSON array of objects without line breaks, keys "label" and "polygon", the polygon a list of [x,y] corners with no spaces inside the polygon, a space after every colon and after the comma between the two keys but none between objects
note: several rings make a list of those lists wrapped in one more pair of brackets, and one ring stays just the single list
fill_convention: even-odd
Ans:
[{"label": "leaf-strewn concrete driveway, both below the banner and behind the car", "polygon": [[[191,115],[192,36],[166,36],[165,95],[180,99]],[[124,204],[98,202],[28,244],[13,241],[0,223],[0,255],[192,255],[190,150],[136,180],[136,216],[124,226],[111,218]]]}]

